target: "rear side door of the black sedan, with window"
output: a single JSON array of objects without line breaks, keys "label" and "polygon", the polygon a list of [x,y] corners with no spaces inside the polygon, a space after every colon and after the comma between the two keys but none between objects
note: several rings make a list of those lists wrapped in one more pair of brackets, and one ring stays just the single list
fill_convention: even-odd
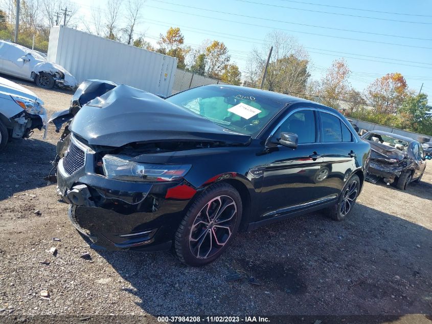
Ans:
[{"label": "rear side door of the black sedan, with window", "polygon": [[324,196],[338,196],[345,181],[356,168],[355,137],[345,121],[331,112],[320,112],[321,141],[324,149],[322,179]]}]

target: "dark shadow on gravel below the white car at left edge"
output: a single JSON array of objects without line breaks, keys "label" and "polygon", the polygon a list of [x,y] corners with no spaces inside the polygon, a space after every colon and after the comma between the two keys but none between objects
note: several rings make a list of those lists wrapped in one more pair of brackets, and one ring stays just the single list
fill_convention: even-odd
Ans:
[{"label": "dark shadow on gravel below the white car at left edge", "polygon": [[37,139],[14,139],[0,152],[0,201],[14,193],[47,185],[55,145]]}]

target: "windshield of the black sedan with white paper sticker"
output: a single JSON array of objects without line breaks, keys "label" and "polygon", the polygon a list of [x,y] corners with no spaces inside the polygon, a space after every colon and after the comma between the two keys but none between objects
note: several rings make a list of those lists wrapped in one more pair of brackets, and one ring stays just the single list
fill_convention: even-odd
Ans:
[{"label": "windshield of the black sedan with white paper sticker", "polygon": [[223,87],[198,87],[168,97],[167,101],[184,107],[231,131],[257,136],[284,103],[244,90]]}]

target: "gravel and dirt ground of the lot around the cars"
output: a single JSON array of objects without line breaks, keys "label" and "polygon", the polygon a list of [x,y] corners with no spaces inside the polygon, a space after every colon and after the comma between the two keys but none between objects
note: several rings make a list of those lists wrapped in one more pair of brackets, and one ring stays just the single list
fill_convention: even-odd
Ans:
[{"label": "gravel and dirt ground of the lot around the cars", "polygon": [[[69,106],[69,93],[26,87],[50,115]],[[89,250],[41,180],[57,137],[51,127],[47,140],[35,132],[0,154],[0,315],[432,314],[430,162],[406,192],[366,183],[345,222],[311,213],[242,233],[215,263],[189,268],[169,252]],[[236,270],[261,285],[227,282]]]}]

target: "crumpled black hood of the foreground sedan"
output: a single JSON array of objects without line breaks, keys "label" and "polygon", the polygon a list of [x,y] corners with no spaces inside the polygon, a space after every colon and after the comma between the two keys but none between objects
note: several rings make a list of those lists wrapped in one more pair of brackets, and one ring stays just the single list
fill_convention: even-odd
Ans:
[{"label": "crumpled black hood of the foreground sedan", "polygon": [[148,92],[118,85],[83,105],[71,131],[90,145],[120,147],[132,142],[221,141],[246,144],[234,133]]}]

